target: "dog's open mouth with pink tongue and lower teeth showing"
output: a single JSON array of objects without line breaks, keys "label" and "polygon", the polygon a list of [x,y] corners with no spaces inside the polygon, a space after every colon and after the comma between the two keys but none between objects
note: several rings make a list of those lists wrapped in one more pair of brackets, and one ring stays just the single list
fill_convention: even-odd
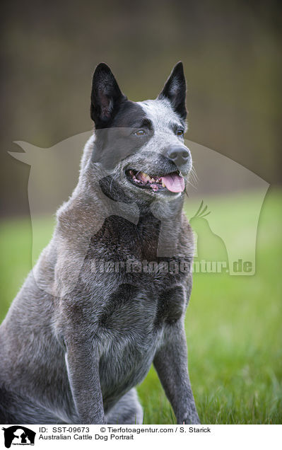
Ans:
[{"label": "dog's open mouth with pink tongue and lower teeth showing", "polygon": [[170,192],[183,192],[185,188],[184,178],[179,172],[171,172],[160,177],[147,175],[141,171],[129,169],[127,171],[129,181],[139,188],[151,189],[153,192],[170,190]]}]

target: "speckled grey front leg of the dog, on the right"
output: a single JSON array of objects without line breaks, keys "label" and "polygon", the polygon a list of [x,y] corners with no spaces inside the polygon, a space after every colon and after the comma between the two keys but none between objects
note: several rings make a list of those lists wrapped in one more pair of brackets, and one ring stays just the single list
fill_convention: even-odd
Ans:
[{"label": "speckled grey front leg of the dog, on the right", "polygon": [[199,424],[187,368],[187,345],[184,325],[168,325],[162,345],[153,360],[165,394],[179,424]]}]

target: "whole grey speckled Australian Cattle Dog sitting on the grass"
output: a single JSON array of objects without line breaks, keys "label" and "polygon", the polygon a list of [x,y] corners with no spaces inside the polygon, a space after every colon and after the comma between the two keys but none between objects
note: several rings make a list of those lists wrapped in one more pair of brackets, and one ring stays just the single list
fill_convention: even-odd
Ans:
[{"label": "whole grey speckled Australian Cattle Dog sitting on the grass", "polygon": [[182,62],[141,102],[96,67],[78,185],[0,327],[2,424],[142,424],[136,385],[152,363],[177,423],[199,424],[184,332],[185,101]]}]

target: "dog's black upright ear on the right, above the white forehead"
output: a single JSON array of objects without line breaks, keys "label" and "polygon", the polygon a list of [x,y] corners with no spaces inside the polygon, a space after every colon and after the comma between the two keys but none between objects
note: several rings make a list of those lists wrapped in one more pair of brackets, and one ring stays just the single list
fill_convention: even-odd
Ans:
[{"label": "dog's black upright ear on the right, above the white forehead", "polygon": [[168,98],[172,104],[172,108],[175,110],[175,113],[179,114],[183,120],[186,119],[186,81],[183,64],[181,61],[177,62],[175,67],[172,69],[172,73],[165,82],[163,91],[161,91],[158,98]]}]

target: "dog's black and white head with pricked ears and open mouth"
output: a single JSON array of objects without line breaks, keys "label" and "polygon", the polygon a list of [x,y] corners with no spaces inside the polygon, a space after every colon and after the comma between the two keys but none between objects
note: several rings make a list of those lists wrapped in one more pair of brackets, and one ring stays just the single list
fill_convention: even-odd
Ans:
[{"label": "dog's black and white head with pricked ears and open mouth", "polygon": [[[155,100],[133,102],[112,71],[99,64],[93,75],[90,114],[95,122],[93,163],[107,171],[107,183],[142,202],[183,197],[192,158],[184,145],[186,82],[176,64]],[[117,184],[116,184],[117,183]]]}]

